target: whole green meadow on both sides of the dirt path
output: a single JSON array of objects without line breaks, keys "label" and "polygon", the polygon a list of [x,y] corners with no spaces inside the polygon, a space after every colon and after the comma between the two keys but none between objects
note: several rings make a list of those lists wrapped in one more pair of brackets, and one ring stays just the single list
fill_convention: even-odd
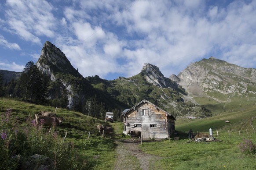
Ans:
[{"label": "whole green meadow on both sides of the dirt path", "polygon": [[[248,147],[256,144],[253,129],[256,127],[254,101],[227,104],[205,102],[205,105],[210,104],[212,106],[207,108],[213,110],[214,105],[217,108],[217,111],[212,111],[212,117],[176,120],[175,136],[180,137],[179,141],[152,140],[139,144],[142,152],[159,157],[159,160],[150,163],[151,170],[256,169],[256,150],[245,152],[240,147],[246,144],[246,139],[252,142]],[[6,115],[8,108],[12,109],[10,115]],[[46,127],[39,128],[38,131],[33,127],[32,120],[34,114],[42,110],[56,110],[57,115],[65,117],[62,126],[55,127],[53,132],[48,132],[49,128]],[[106,124],[103,120],[66,109],[15,100],[0,99],[0,116],[0,132],[1,135],[6,134],[6,138],[0,138],[0,169],[15,169],[24,165],[31,154],[44,154],[55,160],[55,169],[63,169],[65,165],[66,169],[112,170],[118,159],[114,140],[129,138],[122,134],[121,122],[109,124],[114,127],[113,138],[102,138],[97,125]],[[225,123],[225,120],[230,123]],[[219,142],[195,142],[187,138],[190,129],[194,134],[208,134],[210,128]],[[18,155],[19,161],[12,159],[13,154]]]}]

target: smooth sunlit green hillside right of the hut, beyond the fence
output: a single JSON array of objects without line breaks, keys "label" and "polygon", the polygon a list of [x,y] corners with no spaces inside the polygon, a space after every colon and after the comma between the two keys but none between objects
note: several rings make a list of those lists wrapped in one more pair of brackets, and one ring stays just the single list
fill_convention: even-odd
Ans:
[{"label": "smooth sunlit green hillside right of the hut, beyond the fence", "polygon": [[[212,99],[197,98],[197,102],[205,105],[214,116],[202,120],[177,120],[176,130],[187,132],[191,128],[194,132],[208,132],[212,128],[216,131],[225,129],[225,131],[253,132],[252,126],[256,127],[256,121],[252,121],[256,116],[256,101],[217,103]],[[229,120],[230,123],[225,123],[225,120]]]}]

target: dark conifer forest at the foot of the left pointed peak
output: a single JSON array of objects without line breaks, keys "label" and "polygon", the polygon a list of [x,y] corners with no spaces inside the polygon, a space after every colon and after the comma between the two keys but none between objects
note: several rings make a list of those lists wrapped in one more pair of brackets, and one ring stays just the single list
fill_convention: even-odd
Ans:
[{"label": "dark conifer forest at the foot of the left pointed peak", "polygon": [[[58,75],[57,75],[58,76]],[[105,113],[111,111],[114,113],[115,121],[121,121],[121,110],[106,108],[103,102],[99,102],[99,95],[93,94],[85,78],[75,78],[72,75],[65,74],[70,82],[76,86],[73,89],[77,92],[91,92],[88,98],[78,98],[74,101],[73,109],[84,114],[90,114],[100,119],[105,118]],[[81,95],[82,96],[82,95]],[[33,61],[28,61],[26,67],[22,70],[18,79],[12,79],[10,82],[4,81],[4,75],[0,73],[0,97],[7,97],[28,103],[40,104],[44,106],[53,106],[69,109],[68,91],[62,85],[61,80],[51,81],[50,77],[40,72]]]}]

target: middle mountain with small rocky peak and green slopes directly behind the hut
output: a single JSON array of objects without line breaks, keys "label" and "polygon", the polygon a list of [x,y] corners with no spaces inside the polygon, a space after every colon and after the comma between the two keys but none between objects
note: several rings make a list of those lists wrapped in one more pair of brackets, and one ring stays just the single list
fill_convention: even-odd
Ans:
[{"label": "middle mountain with small rocky peak and green slopes directly behind the hut", "polygon": [[[113,81],[100,79],[98,76],[87,78],[95,89],[100,89],[109,96],[130,108],[147,99],[167,112],[179,115],[186,114],[185,107],[198,113],[200,106],[194,106],[193,99],[187,99],[187,93],[176,82],[165,78],[157,66],[144,64],[141,72],[131,78],[119,77]],[[192,102],[193,101],[193,102]],[[195,110],[195,108],[197,108]],[[202,116],[204,113],[200,112]]]}]

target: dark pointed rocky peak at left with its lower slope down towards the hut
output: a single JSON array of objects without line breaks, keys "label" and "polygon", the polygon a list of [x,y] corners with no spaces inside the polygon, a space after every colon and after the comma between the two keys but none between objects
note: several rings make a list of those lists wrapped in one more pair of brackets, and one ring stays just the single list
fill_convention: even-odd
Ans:
[{"label": "dark pointed rocky peak at left with its lower slope down towards the hut", "polygon": [[118,101],[108,96],[106,92],[95,89],[88,79],[72,66],[65,54],[52,43],[48,41],[44,43],[36,65],[42,73],[50,77],[50,98],[58,99],[61,103],[67,102],[68,109],[83,113],[94,112],[100,117],[106,110],[121,108],[122,104],[116,104]]}]

